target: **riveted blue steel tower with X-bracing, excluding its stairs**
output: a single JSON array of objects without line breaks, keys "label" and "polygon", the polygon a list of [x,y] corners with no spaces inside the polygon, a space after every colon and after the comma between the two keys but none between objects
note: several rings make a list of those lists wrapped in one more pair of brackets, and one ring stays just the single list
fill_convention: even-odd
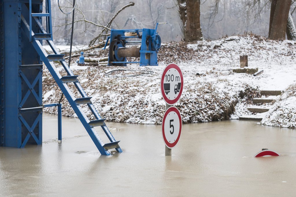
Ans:
[{"label": "riveted blue steel tower with X-bracing, excluding its stairs", "polygon": [[[33,2],[32,11],[42,11],[42,1]],[[42,61],[21,27],[28,3],[0,0],[1,146],[42,143]]]}]

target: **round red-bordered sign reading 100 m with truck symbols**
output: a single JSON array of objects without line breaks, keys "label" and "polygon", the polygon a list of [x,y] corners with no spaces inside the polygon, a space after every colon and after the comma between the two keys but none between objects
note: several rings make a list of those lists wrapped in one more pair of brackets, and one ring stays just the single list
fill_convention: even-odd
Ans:
[{"label": "round red-bordered sign reading 100 m with truck symbols", "polygon": [[183,75],[179,66],[169,64],[165,67],[161,75],[160,91],[168,105],[178,102],[183,91]]}]

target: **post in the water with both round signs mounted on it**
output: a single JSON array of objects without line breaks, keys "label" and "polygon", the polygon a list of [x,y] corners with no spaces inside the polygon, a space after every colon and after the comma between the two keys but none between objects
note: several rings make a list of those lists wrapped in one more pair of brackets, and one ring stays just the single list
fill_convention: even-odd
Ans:
[{"label": "post in the water with both round signs mounted on it", "polygon": [[183,91],[183,74],[176,64],[169,64],[163,70],[160,80],[160,92],[166,103],[162,122],[162,135],[165,143],[165,156],[172,155],[182,130],[182,118],[179,110],[173,107]]}]

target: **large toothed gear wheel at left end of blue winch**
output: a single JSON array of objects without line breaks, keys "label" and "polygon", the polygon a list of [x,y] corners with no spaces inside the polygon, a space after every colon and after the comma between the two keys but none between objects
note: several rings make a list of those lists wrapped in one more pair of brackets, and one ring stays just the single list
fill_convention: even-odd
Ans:
[{"label": "large toothed gear wheel at left end of blue winch", "polygon": [[[115,39],[112,40],[109,47],[109,61],[116,62],[116,61],[124,61],[125,57],[120,57],[118,55],[118,48],[125,47],[122,40]],[[110,63],[113,66],[123,66],[123,63]]]}]

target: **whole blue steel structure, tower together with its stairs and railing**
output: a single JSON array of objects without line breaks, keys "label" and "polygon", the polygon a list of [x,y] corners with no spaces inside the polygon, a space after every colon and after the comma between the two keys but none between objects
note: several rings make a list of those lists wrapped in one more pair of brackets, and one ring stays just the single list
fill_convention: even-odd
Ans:
[{"label": "whole blue steel structure, tower together with its stairs and railing", "polygon": [[[46,3],[46,13],[42,4]],[[0,72],[1,114],[0,146],[22,148],[26,144],[42,144],[42,109],[57,106],[59,111],[59,139],[61,132],[61,105],[42,105],[43,64],[52,74],[71,107],[93,140],[99,152],[110,155],[109,149],[122,152],[74,75],[52,42],[50,0],[0,0]],[[42,19],[46,17],[46,28]],[[54,54],[47,54],[42,46],[45,40]],[[61,76],[52,61],[59,61],[67,73]],[[75,95],[67,84],[73,83],[79,94]],[[95,120],[89,120],[81,105],[87,105]],[[104,143],[94,127],[100,126],[110,143]]]}]

